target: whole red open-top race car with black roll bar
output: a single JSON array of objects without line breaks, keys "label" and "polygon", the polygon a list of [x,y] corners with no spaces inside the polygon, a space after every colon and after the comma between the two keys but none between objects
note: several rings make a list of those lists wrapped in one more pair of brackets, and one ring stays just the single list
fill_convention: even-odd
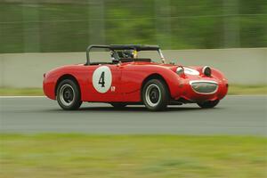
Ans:
[{"label": "whole red open-top race car with black roll bar", "polygon": [[[109,62],[92,62],[93,48],[108,50]],[[161,62],[140,58],[142,51],[157,52]],[[62,109],[78,109],[83,101],[106,102],[117,108],[144,104],[150,110],[185,103],[213,108],[228,91],[228,81],[219,70],[166,64],[158,45],[90,45],[86,59],[85,64],[44,74],[45,95],[57,100]]]}]

